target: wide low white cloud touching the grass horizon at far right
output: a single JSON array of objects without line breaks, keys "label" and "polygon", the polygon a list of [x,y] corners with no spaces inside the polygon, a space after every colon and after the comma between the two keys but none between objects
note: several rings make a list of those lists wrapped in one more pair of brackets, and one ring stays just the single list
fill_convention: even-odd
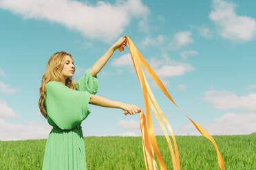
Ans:
[{"label": "wide low white cloud touching the grass horizon at far right", "polygon": [[[256,114],[235,114],[226,113],[221,117],[214,119],[213,123],[199,123],[211,135],[235,135],[235,134],[251,134],[256,132]],[[189,132],[193,135],[200,135],[192,123],[186,124],[182,130],[194,130]],[[183,132],[184,133],[184,132]]]}]

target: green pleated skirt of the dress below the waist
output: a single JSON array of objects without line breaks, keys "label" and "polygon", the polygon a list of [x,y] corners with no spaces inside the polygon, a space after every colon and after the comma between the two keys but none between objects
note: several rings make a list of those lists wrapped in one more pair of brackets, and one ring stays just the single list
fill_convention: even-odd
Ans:
[{"label": "green pleated skirt of the dress below the waist", "polygon": [[71,130],[52,127],[45,145],[43,170],[86,170],[85,142],[81,125]]}]

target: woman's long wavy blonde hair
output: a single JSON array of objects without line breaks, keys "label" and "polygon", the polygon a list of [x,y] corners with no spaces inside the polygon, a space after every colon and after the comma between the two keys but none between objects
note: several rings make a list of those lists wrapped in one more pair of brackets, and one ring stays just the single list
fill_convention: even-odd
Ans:
[{"label": "woman's long wavy blonde hair", "polygon": [[[76,90],[76,84],[72,77],[69,77],[65,80],[65,77],[61,73],[63,66],[65,64],[65,56],[70,56],[73,60],[73,57],[70,53],[65,51],[60,51],[52,54],[51,58],[47,63],[47,68],[45,73],[43,74],[41,80],[41,87],[39,88],[39,92],[41,94],[39,98],[39,108],[40,112],[47,119],[47,112],[45,110],[45,85],[47,82],[56,81],[65,84],[65,86]],[[74,61],[74,60],[73,60]]]}]

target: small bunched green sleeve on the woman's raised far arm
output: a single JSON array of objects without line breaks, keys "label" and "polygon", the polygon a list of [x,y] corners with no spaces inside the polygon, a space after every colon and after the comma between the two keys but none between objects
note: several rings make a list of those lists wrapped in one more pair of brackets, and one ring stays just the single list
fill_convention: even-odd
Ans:
[{"label": "small bunched green sleeve on the woman's raised far arm", "polygon": [[76,86],[78,91],[87,91],[93,95],[98,92],[98,77],[97,75],[92,77],[91,67],[85,71],[83,77],[76,81]]}]

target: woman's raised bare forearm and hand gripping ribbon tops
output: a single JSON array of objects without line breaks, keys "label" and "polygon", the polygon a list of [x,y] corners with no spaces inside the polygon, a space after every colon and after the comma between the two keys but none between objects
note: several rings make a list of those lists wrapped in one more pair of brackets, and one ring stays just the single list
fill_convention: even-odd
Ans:
[{"label": "woman's raised bare forearm and hand gripping ribbon tops", "polygon": [[119,38],[119,40],[114,43],[114,45],[112,45],[107,52],[100,57],[100,59],[98,59],[94,65],[91,67],[91,75],[94,77],[95,75],[98,74],[98,72],[100,72],[100,70],[103,68],[103,66],[105,66],[105,64],[107,63],[107,61],[109,60],[109,58],[112,56],[112,54],[114,53],[114,51],[116,51],[116,49],[118,49],[118,47],[120,47],[120,45],[125,44],[126,45],[126,41],[125,38]]}]

